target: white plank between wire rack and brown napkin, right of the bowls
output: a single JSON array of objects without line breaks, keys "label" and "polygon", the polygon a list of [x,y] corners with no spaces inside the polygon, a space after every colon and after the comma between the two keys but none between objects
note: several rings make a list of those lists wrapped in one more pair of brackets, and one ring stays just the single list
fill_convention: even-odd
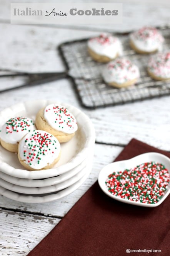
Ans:
[{"label": "white plank between wire rack and brown napkin, right of the bowls", "polygon": [[162,97],[85,112],[95,125],[97,141],[127,144],[135,137],[170,151],[169,109],[170,97]]}]

